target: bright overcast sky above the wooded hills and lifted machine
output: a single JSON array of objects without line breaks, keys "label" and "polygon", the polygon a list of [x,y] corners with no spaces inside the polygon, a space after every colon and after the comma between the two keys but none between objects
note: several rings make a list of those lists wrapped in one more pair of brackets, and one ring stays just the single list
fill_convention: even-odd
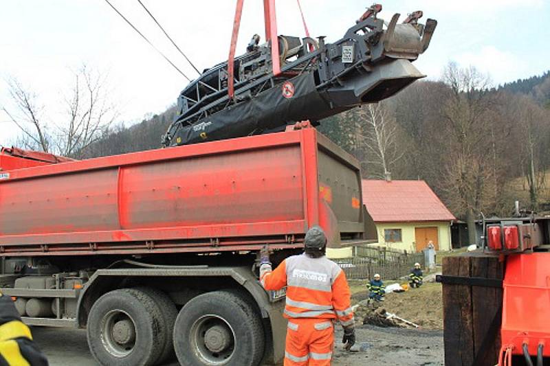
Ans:
[{"label": "bright overcast sky above the wooded hills and lifted machine", "polygon": [[[111,0],[138,29],[190,78],[197,73],[164,38],[135,0]],[[228,55],[235,0],[142,0],[199,69]],[[372,2],[372,1],[371,1]],[[126,125],[173,104],[187,81],[159,56],[104,0],[1,0],[0,107],[14,111],[5,78],[15,77],[37,95],[46,123],[63,123],[62,95],[72,70],[85,62],[109,74],[112,98]],[[254,33],[263,36],[262,1],[247,0],[239,53]],[[303,36],[294,0],[277,1],[279,34]],[[312,36],[340,38],[364,12],[364,0],[301,0]],[[380,14],[423,10],[439,21],[426,54],[416,62],[437,80],[450,60],[490,73],[494,84],[550,69],[550,1],[392,0]],[[0,111],[0,145],[8,146],[17,126]]]}]

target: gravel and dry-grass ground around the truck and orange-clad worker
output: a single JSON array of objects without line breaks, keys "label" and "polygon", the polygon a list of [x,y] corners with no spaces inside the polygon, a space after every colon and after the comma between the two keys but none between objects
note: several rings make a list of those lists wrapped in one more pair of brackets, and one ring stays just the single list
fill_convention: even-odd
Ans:
[{"label": "gravel and dry-grass ground around the truck and orange-clad worker", "polygon": [[[366,299],[364,282],[351,284],[353,302]],[[333,366],[443,365],[441,285],[426,283],[419,289],[386,296],[388,312],[421,325],[419,329],[358,325],[355,352],[343,349],[342,330],[336,330]],[[34,327],[32,334],[53,366],[95,366],[85,330]],[[176,366],[173,363],[170,366]]]}]

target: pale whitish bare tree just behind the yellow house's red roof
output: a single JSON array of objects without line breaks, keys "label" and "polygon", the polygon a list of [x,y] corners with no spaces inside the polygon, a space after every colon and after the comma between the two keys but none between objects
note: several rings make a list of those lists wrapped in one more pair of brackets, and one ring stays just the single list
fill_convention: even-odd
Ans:
[{"label": "pale whitish bare tree just behind the yellow house's red roof", "polygon": [[369,175],[384,179],[393,165],[403,157],[397,146],[397,124],[383,102],[368,104],[359,110],[359,146],[364,148],[364,159],[369,165]]}]

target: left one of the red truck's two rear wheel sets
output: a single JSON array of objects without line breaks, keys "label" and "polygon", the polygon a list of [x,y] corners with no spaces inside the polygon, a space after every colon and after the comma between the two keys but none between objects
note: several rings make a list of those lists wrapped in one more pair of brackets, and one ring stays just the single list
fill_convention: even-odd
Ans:
[{"label": "left one of the red truck's two rear wheel sets", "polygon": [[152,366],[166,343],[162,313],[155,301],[134,288],[113,290],[91,307],[88,346],[104,366]]}]

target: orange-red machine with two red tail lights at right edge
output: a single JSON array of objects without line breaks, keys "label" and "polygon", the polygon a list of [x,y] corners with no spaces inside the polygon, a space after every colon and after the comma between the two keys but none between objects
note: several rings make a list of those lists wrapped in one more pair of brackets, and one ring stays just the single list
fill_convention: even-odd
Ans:
[{"label": "orange-red machine with two red tail lights at right edge", "polygon": [[544,246],[550,220],[492,219],[483,226],[487,249],[501,253],[505,264],[498,365],[511,366],[516,355],[536,357],[542,366],[550,357],[550,253]]}]

